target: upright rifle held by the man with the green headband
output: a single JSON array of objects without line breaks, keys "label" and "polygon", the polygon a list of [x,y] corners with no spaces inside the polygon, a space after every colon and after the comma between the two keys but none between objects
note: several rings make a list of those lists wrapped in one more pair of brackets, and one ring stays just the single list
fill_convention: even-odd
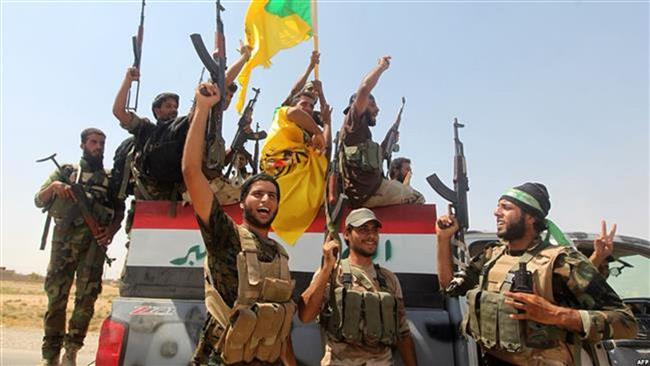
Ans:
[{"label": "upright rifle held by the man with the green headband", "polygon": [[463,143],[458,138],[458,129],[462,127],[465,127],[465,125],[458,123],[458,119],[454,118],[454,189],[447,187],[436,174],[427,177],[427,182],[431,188],[451,203],[452,213],[458,220],[459,228],[455,234],[456,243],[454,245],[456,251],[454,253],[455,266],[469,262],[469,253],[465,245],[465,233],[469,228],[469,210],[467,207],[469,180],[467,179],[467,164],[465,162]]}]

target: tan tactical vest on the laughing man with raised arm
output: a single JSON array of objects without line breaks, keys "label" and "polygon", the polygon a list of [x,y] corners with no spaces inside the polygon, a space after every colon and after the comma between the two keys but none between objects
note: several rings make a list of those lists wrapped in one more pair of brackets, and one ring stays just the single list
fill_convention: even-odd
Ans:
[{"label": "tan tactical vest on the laughing man with raised arm", "polygon": [[210,337],[218,341],[212,346],[226,364],[275,362],[286,347],[296,311],[289,256],[276,243],[279,254],[271,262],[261,262],[254,234],[243,226],[238,230],[242,250],[237,255],[239,286],[232,308],[212,286],[206,258],[205,305],[218,323],[216,337]]}]

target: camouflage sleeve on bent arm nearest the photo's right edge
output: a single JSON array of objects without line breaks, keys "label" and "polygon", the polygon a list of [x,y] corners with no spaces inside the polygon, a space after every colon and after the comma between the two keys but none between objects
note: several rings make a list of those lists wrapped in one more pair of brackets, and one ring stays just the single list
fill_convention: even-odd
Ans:
[{"label": "camouflage sleeve on bent arm nearest the photo's right edge", "polygon": [[[598,342],[636,336],[634,315],[582,253],[570,249],[566,254],[560,255],[553,273],[554,296],[567,299],[569,307],[580,312],[582,339]],[[560,283],[556,286],[558,280]],[[561,289],[568,293],[562,294]],[[572,296],[567,296],[569,293]]]}]

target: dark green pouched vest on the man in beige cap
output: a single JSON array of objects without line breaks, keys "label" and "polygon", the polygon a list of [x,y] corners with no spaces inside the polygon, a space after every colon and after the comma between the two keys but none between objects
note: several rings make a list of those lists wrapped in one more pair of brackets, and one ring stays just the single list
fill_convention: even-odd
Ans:
[{"label": "dark green pouched vest on the man in beige cap", "polygon": [[[374,265],[379,288],[349,260],[342,260],[340,265],[342,286],[330,281],[330,302],[320,315],[321,327],[339,342],[366,346],[396,344],[397,299],[388,289],[379,265]],[[359,287],[362,290],[357,290]]]}]

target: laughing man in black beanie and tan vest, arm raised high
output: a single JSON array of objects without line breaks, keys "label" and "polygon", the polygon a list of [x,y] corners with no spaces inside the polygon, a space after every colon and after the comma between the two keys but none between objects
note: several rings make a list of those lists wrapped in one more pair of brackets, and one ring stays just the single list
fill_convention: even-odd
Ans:
[{"label": "laughing man in black beanie and tan vest, arm raised high", "polygon": [[271,176],[258,174],[241,188],[243,222],[224,212],[202,171],[208,112],[219,89],[203,83],[183,151],[183,178],[207,250],[205,304],[208,310],[193,363],[295,365],[291,321],[295,282],[289,257],[269,238],[280,190]]}]

